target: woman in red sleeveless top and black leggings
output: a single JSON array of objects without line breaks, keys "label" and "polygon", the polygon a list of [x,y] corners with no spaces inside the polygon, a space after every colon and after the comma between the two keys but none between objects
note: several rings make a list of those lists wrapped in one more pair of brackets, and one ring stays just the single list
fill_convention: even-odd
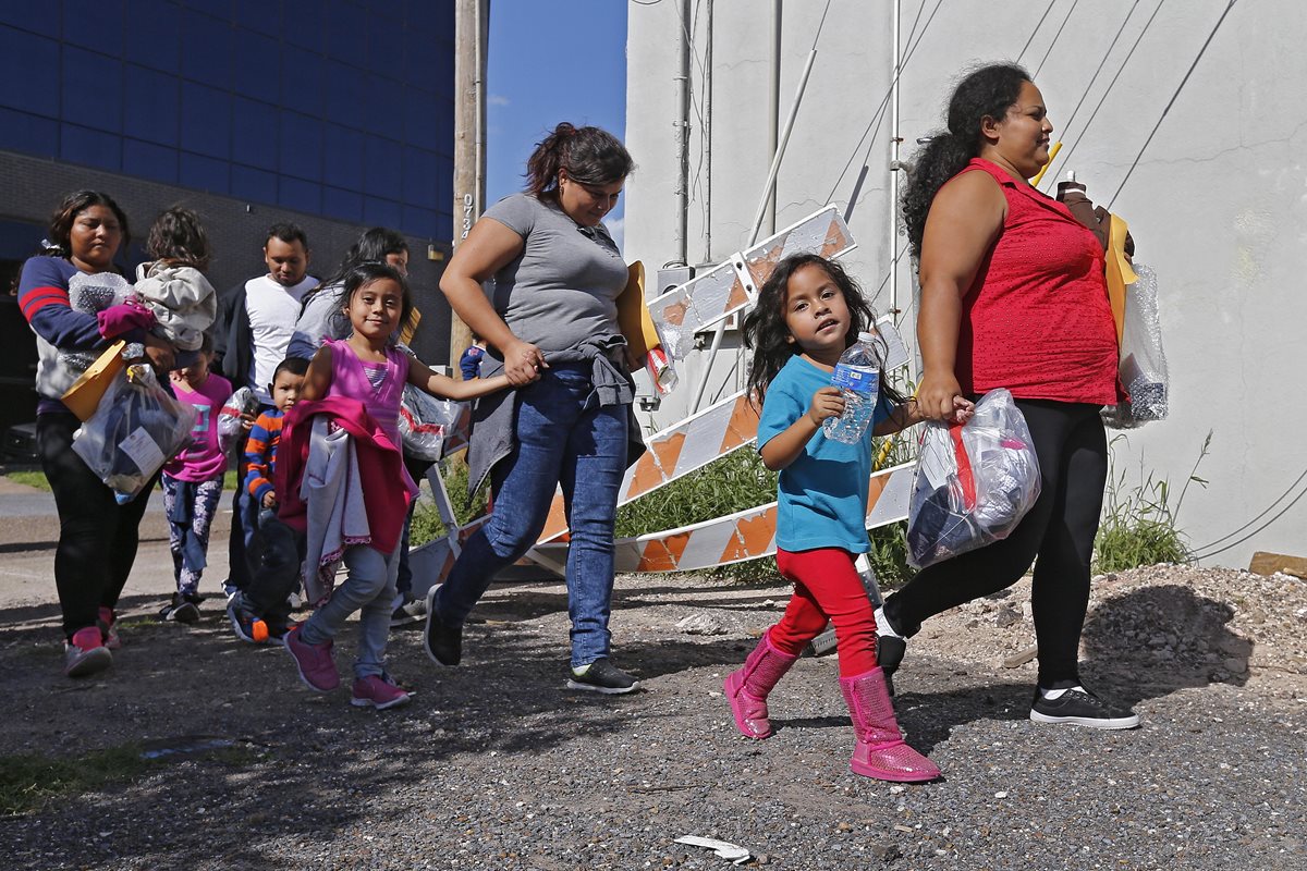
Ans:
[{"label": "woman in red sleeveless top and black leggings", "polygon": [[903,217],[920,264],[921,413],[1006,388],[1026,417],[1043,488],[1006,539],[937,563],[877,611],[880,661],[940,611],[996,593],[1034,563],[1039,644],[1030,718],[1132,729],[1138,717],[1080,679],[1090,558],[1107,481],[1099,410],[1116,401],[1116,328],[1103,249],[1027,179],[1048,162],[1052,123],[1021,67],[974,71],[949,102],[948,129],[916,155]]}]

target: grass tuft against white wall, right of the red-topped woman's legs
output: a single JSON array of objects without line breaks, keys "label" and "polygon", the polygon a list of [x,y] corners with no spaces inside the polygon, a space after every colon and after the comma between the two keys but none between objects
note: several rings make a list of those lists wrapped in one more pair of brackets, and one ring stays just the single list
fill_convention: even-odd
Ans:
[{"label": "grass tuft against white wall, right of the red-topped woman's legs", "polygon": [[1145,473],[1142,453],[1137,484],[1129,484],[1125,470],[1117,473],[1115,447],[1121,439],[1125,436],[1116,436],[1110,445],[1103,518],[1098,525],[1098,538],[1094,539],[1094,572],[1103,575],[1157,563],[1189,562],[1188,541],[1179,528],[1178,517],[1189,484],[1205,487],[1208,483],[1197,477],[1197,470],[1208,456],[1212,432],[1202,441],[1199,458],[1174,507],[1170,481],[1157,478],[1154,471]]}]

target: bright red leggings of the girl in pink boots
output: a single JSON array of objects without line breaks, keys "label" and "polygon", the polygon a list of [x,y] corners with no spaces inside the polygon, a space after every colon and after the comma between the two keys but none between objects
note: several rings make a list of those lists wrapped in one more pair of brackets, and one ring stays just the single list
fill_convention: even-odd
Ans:
[{"label": "bright red leggings of the girl in pink boots", "polygon": [[876,667],[876,618],[853,555],[839,547],[796,554],[776,548],[776,568],[793,581],[786,615],[771,627],[771,642],[792,656],[802,653],[826,622],[835,624],[839,674],[852,678]]}]

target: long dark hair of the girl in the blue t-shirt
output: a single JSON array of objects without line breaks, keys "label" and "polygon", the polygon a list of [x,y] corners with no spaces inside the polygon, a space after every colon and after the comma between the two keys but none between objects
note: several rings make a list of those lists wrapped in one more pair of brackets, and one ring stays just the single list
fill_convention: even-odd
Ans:
[{"label": "long dark hair of the girl in the blue t-shirt", "polygon": [[[758,291],[758,302],[753,311],[744,319],[744,345],[753,350],[748,388],[753,402],[759,407],[767,396],[767,385],[771,384],[771,380],[784,368],[791,356],[804,351],[797,342],[792,341],[789,328],[786,325],[789,277],[804,266],[822,269],[839,287],[844,304],[848,307],[848,334],[844,337],[844,347],[856,342],[859,333],[874,329],[876,312],[863,299],[861,287],[857,286],[852,276],[844,272],[839,261],[829,260],[821,255],[789,255],[782,260]],[[885,340],[877,337],[877,342],[884,360]],[[885,384],[884,379],[881,379],[881,390],[891,402],[903,401],[897,390]]]}]

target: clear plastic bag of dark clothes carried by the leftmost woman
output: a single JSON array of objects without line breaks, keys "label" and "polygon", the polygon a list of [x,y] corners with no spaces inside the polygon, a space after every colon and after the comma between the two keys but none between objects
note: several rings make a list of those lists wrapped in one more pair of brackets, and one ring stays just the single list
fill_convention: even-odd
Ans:
[{"label": "clear plastic bag of dark clothes carried by the leftmost woman", "polygon": [[125,504],[191,444],[197,419],[195,406],[178,402],[159,387],[153,370],[128,366],[77,430],[73,451]]}]

